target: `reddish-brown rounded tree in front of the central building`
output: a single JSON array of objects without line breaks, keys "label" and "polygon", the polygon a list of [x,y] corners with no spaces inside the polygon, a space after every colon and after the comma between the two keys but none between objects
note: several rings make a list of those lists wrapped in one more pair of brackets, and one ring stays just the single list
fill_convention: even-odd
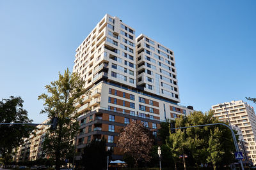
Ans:
[{"label": "reddish-brown rounded tree in front of the central building", "polygon": [[135,166],[138,167],[138,160],[148,162],[150,151],[153,146],[154,136],[150,129],[142,123],[131,122],[124,128],[124,131],[119,134],[117,142],[121,152],[130,155],[135,160]]}]

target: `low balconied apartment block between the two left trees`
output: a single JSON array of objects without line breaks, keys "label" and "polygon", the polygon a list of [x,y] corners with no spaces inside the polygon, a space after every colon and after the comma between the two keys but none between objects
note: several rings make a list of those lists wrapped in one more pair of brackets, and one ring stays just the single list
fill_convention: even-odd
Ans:
[{"label": "low balconied apartment block between the two left trees", "polygon": [[[47,124],[49,120],[45,120],[42,124]],[[29,138],[24,139],[24,145],[17,148],[17,153],[14,157],[16,162],[24,162],[25,160],[44,159],[47,155],[42,149],[42,143],[44,143],[45,132],[49,128],[49,125],[37,125],[33,131],[35,134],[30,134]]]}]

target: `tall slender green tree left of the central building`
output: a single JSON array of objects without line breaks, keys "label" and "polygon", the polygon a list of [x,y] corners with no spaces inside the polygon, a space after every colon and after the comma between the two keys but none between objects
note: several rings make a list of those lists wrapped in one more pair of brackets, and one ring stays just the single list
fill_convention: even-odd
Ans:
[{"label": "tall slender green tree left of the central building", "polygon": [[45,153],[54,158],[57,170],[60,169],[61,162],[74,153],[71,141],[79,129],[75,104],[81,103],[80,96],[85,92],[83,85],[84,81],[67,69],[63,75],[59,73],[59,80],[45,86],[48,94],[38,97],[44,100],[45,108],[41,113],[47,113],[49,118],[58,118],[56,130],[48,129],[43,144]]}]

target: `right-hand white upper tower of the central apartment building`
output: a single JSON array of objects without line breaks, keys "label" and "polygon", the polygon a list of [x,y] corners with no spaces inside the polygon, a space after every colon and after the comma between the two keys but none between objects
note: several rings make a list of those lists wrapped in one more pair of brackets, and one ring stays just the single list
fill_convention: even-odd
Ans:
[{"label": "right-hand white upper tower of the central apartment building", "polygon": [[137,82],[144,90],[179,103],[173,51],[147,36],[136,38]]}]

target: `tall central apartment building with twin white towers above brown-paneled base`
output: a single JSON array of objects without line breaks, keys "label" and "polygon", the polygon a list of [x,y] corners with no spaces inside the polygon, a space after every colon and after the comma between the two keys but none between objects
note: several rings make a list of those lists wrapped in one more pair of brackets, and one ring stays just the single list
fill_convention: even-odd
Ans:
[{"label": "tall central apartment building with twin white towers above brown-paneled base", "polygon": [[108,14],[77,48],[73,72],[83,78],[87,90],[83,104],[76,104],[81,125],[78,153],[104,136],[107,146],[114,146],[113,159],[122,159],[115,145],[129,122],[159,129],[166,118],[193,111],[178,104],[173,51],[143,34],[136,38],[134,28]]}]

